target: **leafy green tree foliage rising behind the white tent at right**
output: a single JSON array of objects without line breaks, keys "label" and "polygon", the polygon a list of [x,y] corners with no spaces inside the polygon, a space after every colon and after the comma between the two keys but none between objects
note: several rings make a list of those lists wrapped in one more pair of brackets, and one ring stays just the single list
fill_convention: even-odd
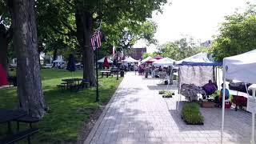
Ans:
[{"label": "leafy green tree foliage rising behind the white tent at right", "polygon": [[242,54],[256,47],[256,7],[248,4],[242,14],[235,12],[226,16],[226,22],[219,27],[219,34],[214,37],[209,52],[215,60]]}]

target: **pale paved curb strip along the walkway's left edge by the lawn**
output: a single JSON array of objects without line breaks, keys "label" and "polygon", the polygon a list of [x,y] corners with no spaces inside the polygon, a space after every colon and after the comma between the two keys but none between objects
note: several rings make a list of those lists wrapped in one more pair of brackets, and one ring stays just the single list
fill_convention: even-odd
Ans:
[{"label": "pale paved curb strip along the walkway's left edge by the lawn", "polygon": [[83,144],[90,144],[90,142],[92,141],[92,139],[94,138],[94,134],[96,133],[96,131],[98,130],[98,126],[100,126],[100,124],[102,123],[103,118],[106,115],[107,110],[109,110],[110,105],[112,104],[112,102],[114,101],[114,97],[116,97],[116,95],[118,94],[119,91],[119,87],[122,84],[122,82],[120,82],[118,89],[115,90],[112,98],[110,98],[110,102],[107,103],[107,105],[105,106],[102,114],[99,116],[97,122],[95,123],[94,127],[92,130],[90,130],[90,134],[88,135],[88,137],[86,138],[86,140],[83,142]]}]

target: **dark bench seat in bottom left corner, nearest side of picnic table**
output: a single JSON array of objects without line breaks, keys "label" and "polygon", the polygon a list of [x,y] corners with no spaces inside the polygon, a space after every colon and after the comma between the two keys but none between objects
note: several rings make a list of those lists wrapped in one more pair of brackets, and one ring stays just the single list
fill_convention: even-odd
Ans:
[{"label": "dark bench seat in bottom left corner, nearest side of picnic table", "polygon": [[26,138],[27,143],[30,144],[30,136],[32,134],[38,133],[38,131],[39,129],[34,128],[18,132],[17,134],[7,135],[6,138],[0,139],[0,144],[14,144],[14,142],[18,142]]}]

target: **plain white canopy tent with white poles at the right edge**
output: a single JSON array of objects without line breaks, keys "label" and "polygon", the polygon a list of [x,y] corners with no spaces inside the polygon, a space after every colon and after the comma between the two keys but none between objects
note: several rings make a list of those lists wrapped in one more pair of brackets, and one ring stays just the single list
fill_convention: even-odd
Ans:
[{"label": "plain white canopy tent with white poles at the right edge", "polygon": [[[256,83],[256,50],[249,51],[244,54],[238,54],[232,57],[227,57],[223,59],[223,83],[226,79],[237,80],[245,83]],[[226,86],[223,85],[223,90]],[[249,89],[253,90],[253,96],[249,96],[247,99],[247,110],[252,113],[252,135],[251,143],[254,143],[254,118],[255,118],[255,107],[256,98],[255,90],[256,86],[252,85]],[[248,93],[248,92],[247,92]],[[225,93],[222,95],[222,133],[221,138],[223,138],[224,130],[224,114],[225,114]]]}]

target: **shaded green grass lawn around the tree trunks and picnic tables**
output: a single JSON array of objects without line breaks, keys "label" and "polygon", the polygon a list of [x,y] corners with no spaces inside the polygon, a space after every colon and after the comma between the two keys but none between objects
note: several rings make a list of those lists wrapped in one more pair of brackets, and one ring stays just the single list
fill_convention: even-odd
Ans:
[{"label": "shaded green grass lawn around the tree trunks and picnic tables", "polygon": [[[99,105],[106,104],[114,94],[122,78],[99,77],[100,102],[95,102],[95,88],[79,90],[59,90],[56,85],[64,78],[71,78],[67,70],[42,70],[42,88],[46,104],[50,107],[42,121],[38,122],[40,132],[32,137],[32,143],[75,143],[78,131],[84,122],[89,120],[90,114],[97,110]],[[82,70],[74,72],[74,78],[82,78]],[[0,108],[16,108],[18,98],[16,88],[0,90]],[[13,129],[16,124],[13,122]],[[0,135],[6,129],[6,124],[0,125]]]}]

